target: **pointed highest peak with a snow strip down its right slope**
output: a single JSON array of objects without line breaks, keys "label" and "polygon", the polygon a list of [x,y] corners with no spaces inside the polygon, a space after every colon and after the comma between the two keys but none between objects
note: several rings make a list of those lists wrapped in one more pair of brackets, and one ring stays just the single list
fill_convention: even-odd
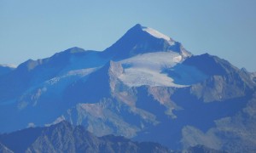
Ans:
[{"label": "pointed highest peak with a snow strip down its right slope", "polygon": [[137,24],[104,52],[113,56],[114,59],[125,59],[137,54],[170,50],[183,55],[183,57],[191,55],[180,42],[175,42],[171,37],[152,28]]}]

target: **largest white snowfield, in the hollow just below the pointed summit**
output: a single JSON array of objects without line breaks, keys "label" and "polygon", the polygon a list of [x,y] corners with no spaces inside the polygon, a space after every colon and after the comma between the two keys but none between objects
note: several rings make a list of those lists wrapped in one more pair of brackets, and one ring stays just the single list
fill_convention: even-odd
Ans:
[{"label": "largest white snowfield, in the hollow just below the pointed summit", "polygon": [[170,68],[182,61],[182,56],[175,52],[155,52],[139,54],[130,59],[121,60],[124,73],[119,79],[130,87],[142,85],[182,88],[173,82],[171,77],[161,73],[164,68]]}]

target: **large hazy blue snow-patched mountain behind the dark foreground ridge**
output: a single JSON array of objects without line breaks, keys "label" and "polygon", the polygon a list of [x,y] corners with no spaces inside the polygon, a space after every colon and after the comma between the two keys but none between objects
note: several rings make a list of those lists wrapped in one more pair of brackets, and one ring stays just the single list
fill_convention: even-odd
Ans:
[{"label": "large hazy blue snow-patched mountain behind the dark foreground ridge", "polygon": [[2,73],[0,132],[66,120],[172,150],[253,152],[255,87],[255,73],[136,25],[102,52],[69,48]]}]

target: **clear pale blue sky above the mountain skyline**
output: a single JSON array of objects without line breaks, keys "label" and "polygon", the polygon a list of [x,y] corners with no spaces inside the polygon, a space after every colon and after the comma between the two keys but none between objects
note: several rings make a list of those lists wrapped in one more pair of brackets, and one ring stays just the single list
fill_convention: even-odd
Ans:
[{"label": "clear pale blue sky above the mountain skyline", "polygon": [[256,71],[256,0],[0,0],[0,63],[103,50],[137,23]]}]

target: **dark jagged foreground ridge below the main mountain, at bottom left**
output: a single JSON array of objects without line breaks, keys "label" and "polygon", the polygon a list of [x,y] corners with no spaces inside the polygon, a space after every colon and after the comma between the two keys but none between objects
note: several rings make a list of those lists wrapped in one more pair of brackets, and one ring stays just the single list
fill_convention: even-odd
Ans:
[{"label": "dark jagged foreground ridge below the main mountain, at bottom left", "polygon": [[[34,127],[0,135],[0,142],[14,152],[171,152],[160,144],[133,142],[124,137],[96,137],[84,127],[60,122],[50,127]],[[0,144],[1,152],[12,152]]]}]

